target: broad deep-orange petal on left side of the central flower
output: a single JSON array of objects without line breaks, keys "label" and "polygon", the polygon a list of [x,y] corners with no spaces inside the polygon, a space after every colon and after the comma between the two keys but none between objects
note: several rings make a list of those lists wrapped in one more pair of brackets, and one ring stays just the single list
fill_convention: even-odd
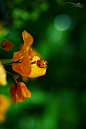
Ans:
[{"label": "broad deep-orange petal on left side of the central flower", "polygon": [[12,69],[22,76],[28,76],[31,72],[31,65],[28,53],[26,50],[15,52],[13,56],[13,62],[21,60],[19,63],[13,63]]}]

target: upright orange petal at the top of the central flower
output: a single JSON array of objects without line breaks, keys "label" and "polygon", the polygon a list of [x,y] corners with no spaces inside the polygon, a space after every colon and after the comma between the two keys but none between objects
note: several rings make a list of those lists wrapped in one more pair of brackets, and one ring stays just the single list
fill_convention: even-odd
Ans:
[{"label": "upright orange petal at the top of the central flower", "polygon": [[22,37],[24,40],[24,47],[23,48],[30,47],[33,43],[33,37],[25,30],[22,32]]}]

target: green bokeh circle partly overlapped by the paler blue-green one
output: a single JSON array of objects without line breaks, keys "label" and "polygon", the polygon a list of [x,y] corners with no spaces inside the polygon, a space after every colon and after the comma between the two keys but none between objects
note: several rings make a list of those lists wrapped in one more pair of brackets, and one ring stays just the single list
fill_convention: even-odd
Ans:
[{"label": "green bokeh circle partly overlapped by the paler blue-green one", "polygon": [[53,25],[51,25],[46,31],[46,36],[49,41],[57,42],[62,38],[62,32],[58,31]]}]

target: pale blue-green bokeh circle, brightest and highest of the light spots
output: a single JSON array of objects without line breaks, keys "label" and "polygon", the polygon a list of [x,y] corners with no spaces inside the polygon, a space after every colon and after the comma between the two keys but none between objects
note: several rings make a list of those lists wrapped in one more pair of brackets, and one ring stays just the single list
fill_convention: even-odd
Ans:
[{"label": "pale blue-green bokeh circle, brightest and highest of the light spots", "polygon": [[59,31],[67,30],[71,25],[71,19],[67,14],[60,14],[55,18],[54,27]]}]

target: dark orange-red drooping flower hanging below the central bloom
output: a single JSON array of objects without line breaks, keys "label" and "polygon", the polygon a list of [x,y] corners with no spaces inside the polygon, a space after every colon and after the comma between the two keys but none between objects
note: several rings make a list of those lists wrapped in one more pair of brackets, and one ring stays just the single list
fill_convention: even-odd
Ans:
[{"label": "dark orange-red drooping flower hanging below the central bloom", "polygon": [[11,85],[10,94],[13,102],[23,102],[26,97],[31,97],[31,92],[27,89],[23,82],[16,82],[16,84]]}]

